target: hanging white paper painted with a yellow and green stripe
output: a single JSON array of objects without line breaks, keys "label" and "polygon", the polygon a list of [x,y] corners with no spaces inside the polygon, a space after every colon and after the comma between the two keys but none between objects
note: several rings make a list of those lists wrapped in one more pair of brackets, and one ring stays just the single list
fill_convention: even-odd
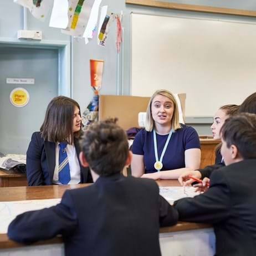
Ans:
[{"label": "hanging white paper painted with a yellow and green stripe", "polygon": [[62,29],[62,33],[83,37],[93,4],[94,0],[69,0],[69,22],[66,29]]}]

